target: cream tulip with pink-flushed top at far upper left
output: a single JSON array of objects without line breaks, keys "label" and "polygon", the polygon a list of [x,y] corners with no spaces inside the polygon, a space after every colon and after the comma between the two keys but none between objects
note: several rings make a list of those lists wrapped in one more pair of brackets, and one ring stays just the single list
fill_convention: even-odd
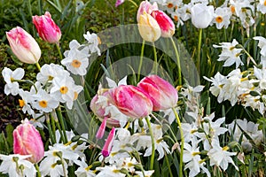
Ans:
[{"label": "cream tulip with pink-flushed top at far upper left", "polygon": [[6,32],[12,52],[27,64],[35,64],[41,58],[41,49],[35,39],[21,27],[14,27]]}]

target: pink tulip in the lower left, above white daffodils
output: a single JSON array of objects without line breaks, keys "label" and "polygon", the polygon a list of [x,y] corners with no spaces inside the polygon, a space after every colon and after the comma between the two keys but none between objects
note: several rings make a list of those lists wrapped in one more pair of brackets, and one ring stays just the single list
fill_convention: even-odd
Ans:
[{"label": "pink tulip in the lower left, above white daffodils", "polygon": [[32,163],[38,163],[43,158],[41,135],[27,119],[13,131],[13,151],[15,154],[32,155],[28,158]]}]

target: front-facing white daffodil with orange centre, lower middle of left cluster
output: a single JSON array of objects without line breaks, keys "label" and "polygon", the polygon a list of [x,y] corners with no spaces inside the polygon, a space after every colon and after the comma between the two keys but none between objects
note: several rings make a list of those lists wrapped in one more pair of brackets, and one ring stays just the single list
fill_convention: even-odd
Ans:
[{"label": "front-facing white daffodil with orange centre, lower middle of left cluster", "polygon": [[34,96],[32,106],[42,112],[51,112],[52,109],[55,109],[59,106],[59,101],[54,99],[45,90],[39,89],[37,94]]}]

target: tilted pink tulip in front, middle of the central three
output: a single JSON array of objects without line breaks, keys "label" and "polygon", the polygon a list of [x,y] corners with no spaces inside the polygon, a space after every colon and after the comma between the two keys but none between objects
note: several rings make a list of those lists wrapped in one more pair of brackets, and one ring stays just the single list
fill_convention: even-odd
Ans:
[{"label": "tilted pink tulip in front, middle of the central three", "polygon": [[153,103],[146,93],[135,86],[120,85],[110,90],[113,104],[133,119],[144,118],[153,111]]}]

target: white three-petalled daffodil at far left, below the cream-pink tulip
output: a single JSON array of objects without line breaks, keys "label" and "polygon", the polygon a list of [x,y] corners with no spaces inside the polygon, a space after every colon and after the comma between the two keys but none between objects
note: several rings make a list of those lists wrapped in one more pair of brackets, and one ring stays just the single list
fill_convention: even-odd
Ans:
[{"label": "white three-petalled daffodil at far left, below the cream-pink tulip", "polygon": [[22,68],[17,68],[14,71],[4,67],[2,75],[6,84],[4,85],[4,94],[16,96],[19,94],[19,83],[16,80],[21,80],[24,77],[25,71]]}]

